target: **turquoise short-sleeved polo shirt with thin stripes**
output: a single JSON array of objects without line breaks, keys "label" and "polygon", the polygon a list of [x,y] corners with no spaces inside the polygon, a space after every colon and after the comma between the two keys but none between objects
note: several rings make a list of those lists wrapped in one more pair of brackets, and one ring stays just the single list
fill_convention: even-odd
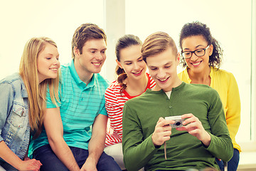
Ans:
[{"label": "turquoise short-sleeved polo shirt with thin stripes", "polygon": [[[99,114],[107,115],[104,95],[109,83],[99,73],[95,73],[86,85],[76,73],[73,61],[61,67],[60,78],[58,107],[63,122],[63,138],[68,146],[87,150],[95,118]],[[47,108],[56,108],[49,95]],[[46,130],[43,129],[33,148],[46,144],[48,140]]]}]

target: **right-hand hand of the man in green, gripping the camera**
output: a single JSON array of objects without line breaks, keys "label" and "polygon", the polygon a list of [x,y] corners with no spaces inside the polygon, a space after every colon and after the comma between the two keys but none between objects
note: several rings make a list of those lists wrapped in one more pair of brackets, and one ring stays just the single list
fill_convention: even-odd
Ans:
[{"label": "right-hand hand of the man in green, gripping the camera", "polygon": [[181,118],[186,119],[182,124],[185,125],[181,128],[176,128],[176,130],[185,130],[189,134],[201,140],[206,147],[210,145],[210,135],[203,128],[201,121],[196,118],[192,113],[181,115]]}]

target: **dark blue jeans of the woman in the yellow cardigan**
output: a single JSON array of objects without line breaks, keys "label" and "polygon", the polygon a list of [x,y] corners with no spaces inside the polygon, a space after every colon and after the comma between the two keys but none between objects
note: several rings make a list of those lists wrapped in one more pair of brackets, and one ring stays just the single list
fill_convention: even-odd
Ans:
[{"label": "dark blue jeans of the woman in the yellow cardigan", "polygon": [[[228,161],[228,171],[235,171],[238,169],[239,158],[240,158],[239,151],[234,148],[233,157]],[[223,171],[224,170],[223,160],[219,161],[218,159],[216,159],[216,162],[218,162],[220,170]]]}]

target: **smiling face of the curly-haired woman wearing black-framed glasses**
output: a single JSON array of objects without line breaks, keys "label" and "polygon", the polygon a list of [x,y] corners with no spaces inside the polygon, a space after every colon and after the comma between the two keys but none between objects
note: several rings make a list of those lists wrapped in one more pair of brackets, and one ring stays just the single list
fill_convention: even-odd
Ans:
[{"label": "smiling face of the curly-haired woman wearing black-framed glasses", "polygon": [[[184,38],[182,43],[183,52],[186,51],[196,51],[201,48],[206,48],[208,43],[203,36],[189,36]],[[185,59],[188,68],[193,73],[202,73],[204,71],[208,71],[209,69],[209,56],[213,53],[213,46],[210,45],[209,48],[206,49],[206,53],[204,56],[196,56],[195,53],[192,53],[191,58]]]}]

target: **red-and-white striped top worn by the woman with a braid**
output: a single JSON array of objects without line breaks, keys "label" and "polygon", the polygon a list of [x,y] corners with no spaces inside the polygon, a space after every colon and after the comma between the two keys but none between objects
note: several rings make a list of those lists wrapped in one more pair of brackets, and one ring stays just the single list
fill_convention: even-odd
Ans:
[{"label": "red-and-white striped top worn by the woman with a braid", "polygon": [[[148,77],[147,88],[153,88],[156,83],[149,76],[149,73],[146,73]],[[108,127],[107,127],[107,138],[105,141],[105,146],[114,145],[116,143],[122,142],[122,112],[124,108],[124,103],[136,96],[130,96],[125,90],[120,94],[121,86],[114,81],[110,84],[110,87],[107,88],[105,92],[106,100],[106,109],[109,116]]]}]

